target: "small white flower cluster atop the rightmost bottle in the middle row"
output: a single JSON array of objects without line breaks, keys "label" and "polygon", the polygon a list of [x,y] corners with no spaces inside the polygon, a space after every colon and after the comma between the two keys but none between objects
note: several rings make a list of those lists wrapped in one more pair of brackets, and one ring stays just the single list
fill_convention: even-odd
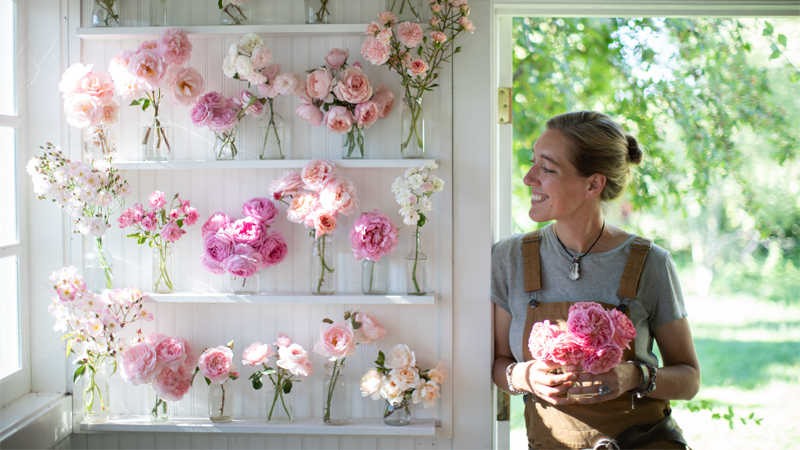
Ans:
[{"label": "small white flower cluster atop the rightmost bottle in the middle row", "polygon": [[400,205],[400,214],[406,225],[425,225],[425,213],[433,211],[430,196],[444,190],[444,180],[431,175],[431,170],[438,167],[433,161],[420,168],[412,167],[406,170],[405,176],[397,177],[392,183],[392,193]]}]

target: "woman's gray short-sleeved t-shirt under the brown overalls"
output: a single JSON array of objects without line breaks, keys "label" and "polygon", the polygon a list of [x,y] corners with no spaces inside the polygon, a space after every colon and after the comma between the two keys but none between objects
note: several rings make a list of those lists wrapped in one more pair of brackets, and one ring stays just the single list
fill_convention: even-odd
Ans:
[{"label": "woman's gray short-sleeved t-shirt under the brown overalls", "polygon": [[[529,301],[525,294],[522,236],[516,234],[507,237],[492,247],[492,301],[511,313],[508,339],[517,361],[523,359],[522,334]],[[576,281],[569,279],[572,258],[567,256],[556,240],[553,227],[544,227],[541,236],[540,302],[605,302],[619,305],[619,280],[636,236],[631,235],[621,246],[608,252],[582,257],[580,278]],[[650,247],[642,268],[636,301],[630,302],[629,307],[637,333],[636,357],[657,365],[651,330],[687,316],[678,273],[668,251],[655,244]]]}]

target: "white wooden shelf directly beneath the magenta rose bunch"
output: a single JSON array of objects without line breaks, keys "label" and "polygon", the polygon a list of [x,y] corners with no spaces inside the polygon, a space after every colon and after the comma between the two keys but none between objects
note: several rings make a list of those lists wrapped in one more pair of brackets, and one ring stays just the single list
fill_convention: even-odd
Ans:
[{"label": "white wooden shelf directly beneath the magenta rose bunch", "polygon": [[176,292],[172,294],[148,294],[158,303],[267,303],[267,304],[317,304],[317,305],[432,305],[436,294],[425,295],[387,294],[364,295],[361,293],[311,295],[311,294],[271,294],[237,295],[214,292]]}]

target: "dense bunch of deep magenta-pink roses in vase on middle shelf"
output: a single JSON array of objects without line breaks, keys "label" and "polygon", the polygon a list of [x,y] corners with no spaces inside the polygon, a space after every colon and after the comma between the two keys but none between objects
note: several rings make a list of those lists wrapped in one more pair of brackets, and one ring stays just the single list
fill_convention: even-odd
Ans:
[{"label": "dense bunch of deep magenta-pink roses in vase on middle shelf", "polygon": [[[242,205],[244,219],[232,221],[216,213],[203,224],[203,267],[211,273],[231,274],[234,292],[244,293],[247,278],[280,263],[286,257],[286,241],[280,231],[269,231],[278,208],[268,198],[253,198]],[[242,278],[238,286],[237,277]],[[258,286],[253,286],[258,290]]]}]

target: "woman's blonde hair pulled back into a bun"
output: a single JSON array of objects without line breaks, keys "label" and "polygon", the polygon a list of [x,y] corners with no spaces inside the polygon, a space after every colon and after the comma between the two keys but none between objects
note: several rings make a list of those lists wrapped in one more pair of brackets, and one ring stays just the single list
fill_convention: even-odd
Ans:
[{"label": "woman's blonde hair pulled back into a bun", "polygon": [[558,130],[570,142],[570,162],[581,176],[605,175],[601,200],[619,198],[631,181],[631,166],[642,162],[639,142],[607,114],[559,114],[547,121],[547,129]]}]

